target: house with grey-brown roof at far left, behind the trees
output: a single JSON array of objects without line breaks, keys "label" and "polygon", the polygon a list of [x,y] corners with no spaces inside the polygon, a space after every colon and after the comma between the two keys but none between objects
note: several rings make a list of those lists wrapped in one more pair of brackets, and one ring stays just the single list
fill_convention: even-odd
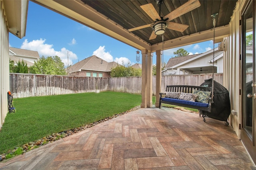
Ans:
[{"label": "house with grey-brown roof at far left, behind the trees", "polygon": [[40,59],[37,51],[18,49],[14,47],[9,47],[9,57],[10,60],[14,61],[14,65],[24,60],[28,64],[28,68],[34,64],[34,61]]}]

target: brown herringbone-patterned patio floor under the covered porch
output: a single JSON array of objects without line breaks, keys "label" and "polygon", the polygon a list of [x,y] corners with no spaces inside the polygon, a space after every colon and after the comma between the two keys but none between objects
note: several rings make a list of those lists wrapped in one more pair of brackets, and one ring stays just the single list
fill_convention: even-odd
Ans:
[{"label": "brown herringbone-patterned patio floor under the covered porch", "polygon": [[232,127],[141,108],[1,162],[2,170],[256,170]]}]

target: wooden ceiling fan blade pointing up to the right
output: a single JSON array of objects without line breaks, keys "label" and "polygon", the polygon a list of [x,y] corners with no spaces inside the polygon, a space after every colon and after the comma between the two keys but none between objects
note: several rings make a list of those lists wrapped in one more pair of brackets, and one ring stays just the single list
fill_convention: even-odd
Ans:
[{"label": "wooden ceiling fan blade pointing up to the right", "polygon": [[186,2],[185,4],[177,8],[176,10],[164,16],[164,18],[168,18],[167,21],[171,21],[179,16],[182,16],[183,14],[186,14],[187,12],[190,12],[198,8],[199,6],[201,6],[201,4],[198,0],[189,0],[188,2]]}]

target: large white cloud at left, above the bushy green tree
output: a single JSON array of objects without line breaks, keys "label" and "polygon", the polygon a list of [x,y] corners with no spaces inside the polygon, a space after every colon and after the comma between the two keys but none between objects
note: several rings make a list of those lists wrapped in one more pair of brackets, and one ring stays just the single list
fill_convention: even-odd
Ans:
[{"label": "large white cloud at left, above the bushy green tree", "polygon": [[[25,39],[21,45],[21,49],[27,49],[32,51],[38,51],[39,56],[49,57],[49,56],[58,56],[62,60],[62,62],[67,66],[67,64],[72,64],[72,60],[76,60],[77,56],[72,51],[69,51],[65,47],[61,49],[61,51],[55,51],[53,45],[49,45],[45,43],[46,39],[37,39],[28,42],[28,39]],[[67,57],[67,52],[69,51],[69,62]]]}]

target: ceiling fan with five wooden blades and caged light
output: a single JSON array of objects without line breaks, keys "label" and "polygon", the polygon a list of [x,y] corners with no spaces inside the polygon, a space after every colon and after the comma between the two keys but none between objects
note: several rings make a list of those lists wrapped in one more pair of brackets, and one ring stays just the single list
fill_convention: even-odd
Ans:
[{"label": "ceiling fan with five wooden blades and caged light", "polygon": [[164,2],[163,0],[156,0],[156,4],[159,6],[159,14],[157,13],[156,9],[154,8],[154,6],[151,3],[140,6],[140,8],[142,8],[142,10],[144,10],[144,12],[146,12],[146,14],[148,14],[148,16],[152,20],[154,20],[154,23],[142,25],[142,26],[131,28],[128,30],[135,31],[138,29],[146,28],[146,27],[152,27],[153,31],[150,35],[149,40],[155,39],[157,35],[164,34],[166,28],[183,32],[183,31],[185,31],[185,29],[188,28],[188,25],[184,25],[184,24],[176,23],[176,22],[170,22],[170,21],[183,15],[183,14],[186,14],[187,12],[190,12],[191,10],[198,8],[201,5],[199,0],[189,0],[182,6],[178,7],[174,11],[167,14],[166,16],[161,17],[160,16],[161,4],[163,2]]}]

